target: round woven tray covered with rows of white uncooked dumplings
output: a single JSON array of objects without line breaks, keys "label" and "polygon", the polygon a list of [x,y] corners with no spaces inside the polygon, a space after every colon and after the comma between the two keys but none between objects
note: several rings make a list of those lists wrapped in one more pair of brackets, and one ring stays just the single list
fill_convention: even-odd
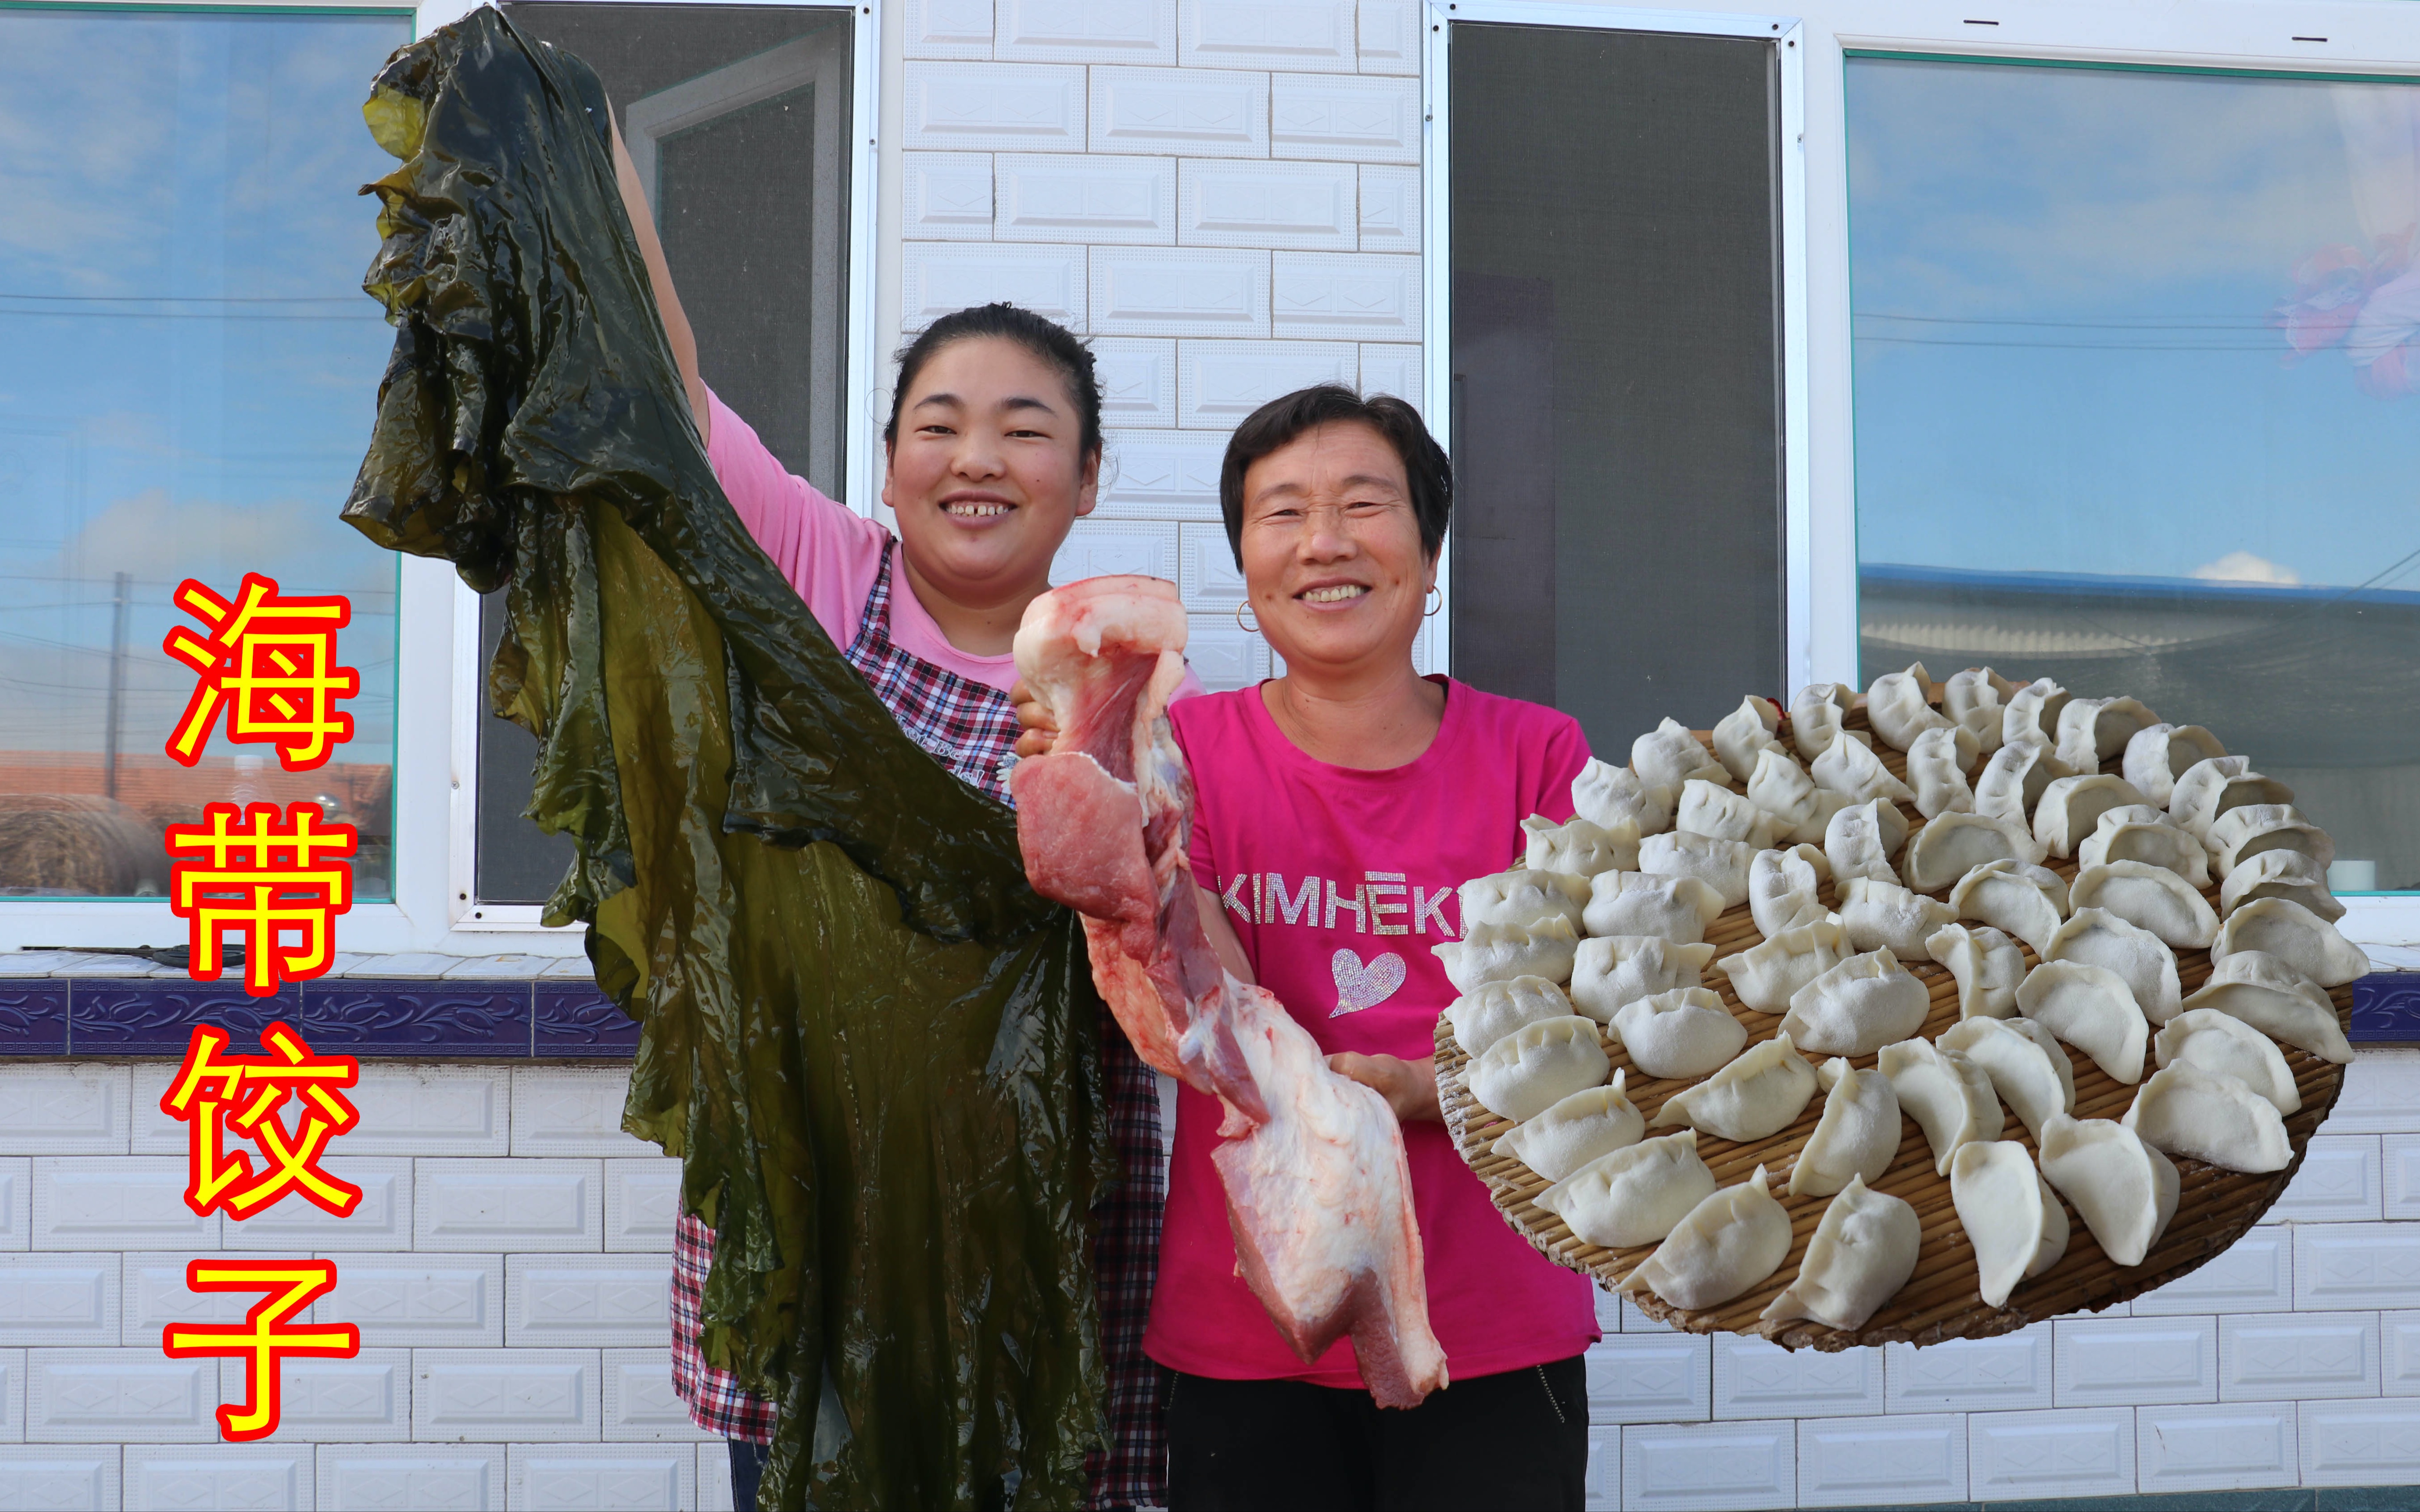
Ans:
[{"label": "round woven tray covered with rows of white uncooked dumplings", "polygon": [[2260,1219],[2352,1060],[2330,839],[2137,699],[1917,665],[1571,798],[1462,885],[1437,1089],[1505,1219],[1677,1328],[2125,1302]]}]

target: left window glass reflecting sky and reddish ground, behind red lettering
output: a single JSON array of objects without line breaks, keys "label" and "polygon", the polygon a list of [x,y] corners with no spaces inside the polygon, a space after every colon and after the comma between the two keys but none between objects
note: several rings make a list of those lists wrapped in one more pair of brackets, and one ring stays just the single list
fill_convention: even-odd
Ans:
[{"label": "left window glass reflecting sky and reddish ground, behind red lettering", "polygon": [[[165,890],[160,825],[327,803],[390,895],[394,556],[336,520],[392,331],[368,80],[409,15],[0,10],[0,895]],[[353,740],[162,745],[179,578],[344,593]]]}]

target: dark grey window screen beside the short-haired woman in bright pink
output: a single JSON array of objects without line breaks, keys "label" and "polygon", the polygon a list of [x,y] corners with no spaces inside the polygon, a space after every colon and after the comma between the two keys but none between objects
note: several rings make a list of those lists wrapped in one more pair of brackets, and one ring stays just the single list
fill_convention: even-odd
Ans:
[{"label": "dark grey window screen beside the short-haired woman in bright pink", "polygon": [[1450,58],[1454,675],[1604,752],[1706,728],[1784,692],[1774,48],[1459,24]]}]

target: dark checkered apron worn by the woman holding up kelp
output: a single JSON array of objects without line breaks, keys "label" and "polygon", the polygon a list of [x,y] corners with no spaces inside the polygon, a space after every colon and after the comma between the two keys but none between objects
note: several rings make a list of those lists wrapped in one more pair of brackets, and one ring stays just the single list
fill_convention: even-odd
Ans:
[{"label": "dark checkered apron worn by the woman holding up kelp", "polygon": [[[900,728],[961,781],[1009,803],[1009,755],[1016,709],[1009,697],[903,651],[891,641],[891,561],[883,564],[842,656],[874,687]],[[1159,1152],[1159,1086],[1135,1057],[1118,1021],[1101,1009],[1101,1069],[1108,1125],[1125,1181],[1094,1210],[1094,1282],[1101,1292],[1101,1355],[1108,1367],[1108,1454],[1087,1461],[1087,1507],[1166,1505],[1166,1444],[1162,1439],[1164,1372],[1142,1355],[1142,1326],[1159,1275],[1159,1219],[1169,1185]],[[714,1231],[682,1212],[673,1231],[673,1389],[690,1403],[690,1420],[726,1439],[772,1442],[774,1403],[753,1396],[699,1350],[699,1294],[714,1265]]]}]

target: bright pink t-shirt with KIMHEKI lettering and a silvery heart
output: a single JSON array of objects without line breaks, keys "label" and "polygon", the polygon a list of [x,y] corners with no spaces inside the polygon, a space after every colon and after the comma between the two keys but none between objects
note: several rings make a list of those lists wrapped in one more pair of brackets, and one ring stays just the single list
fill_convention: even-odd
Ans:
[{"label": "bright pink t-shirt with KIMHEKI lettering and a silvery heart", "polygon": [[[1428,946],[1459,936],[1454,888],[1503,871],[1520,820],[1571,818],[1588,738],[1568,714],[1445,682],[1445,723],[1411,764],[1355,772],[1302,755],[1258,687],[1169,706],[1193,767],[1193,878],[1220,895],[1261,985],[1326,1052],[1435,1055],[1454,999]],[[1176,1093],[1159,1287],[1142,1347],[1229,1381],[1360,1386],[1348,1338],[1304,1367],[1234,1272],[1210,1147],[1217,1098]],[[1404,1127],[1428,1265],[1428,1321],[1457,1381],[1568,1360],[1597,1338],[1588,1277],[1505,1227],[1442,1123]]]}]

